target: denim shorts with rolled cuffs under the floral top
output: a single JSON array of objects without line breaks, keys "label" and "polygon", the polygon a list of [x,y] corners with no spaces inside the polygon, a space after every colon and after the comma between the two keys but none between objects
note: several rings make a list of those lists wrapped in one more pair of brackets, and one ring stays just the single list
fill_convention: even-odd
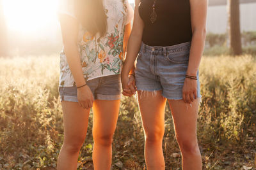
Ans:
[{"label": "denim shorts with rolled cuffs under the floral top", "polygon": [[[114,101],[121,98],[120,74],[103,76],[87,81],[95,100]],[[73,87],[59,87],[61,101],[77,101],[77,89]]]}]

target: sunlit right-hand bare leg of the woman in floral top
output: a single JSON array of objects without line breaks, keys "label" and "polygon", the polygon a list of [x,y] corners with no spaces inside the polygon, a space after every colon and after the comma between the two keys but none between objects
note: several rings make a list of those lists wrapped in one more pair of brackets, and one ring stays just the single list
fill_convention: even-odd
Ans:
[{"label": "sunlit right-hand bare leg of the woman in floral top", "polygon": [[93,103],[93,166],[95,170],[111,168],[112,141],[119,106],[120,100],[96,100]]}]

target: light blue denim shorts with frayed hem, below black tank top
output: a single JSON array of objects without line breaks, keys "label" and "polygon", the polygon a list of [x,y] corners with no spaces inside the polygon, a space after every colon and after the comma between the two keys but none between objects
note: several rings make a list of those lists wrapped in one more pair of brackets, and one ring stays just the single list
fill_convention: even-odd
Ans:
[{"label": "light blue denim shorts with frayed hem, below black tank top", "polygon": [[[141,43],[135,68],[136,86],[142,91],[162,90],[166,99],[182,99],[191,42],[173,46],[148,46]],[[197,97],[200,83],[197,72]]]}]

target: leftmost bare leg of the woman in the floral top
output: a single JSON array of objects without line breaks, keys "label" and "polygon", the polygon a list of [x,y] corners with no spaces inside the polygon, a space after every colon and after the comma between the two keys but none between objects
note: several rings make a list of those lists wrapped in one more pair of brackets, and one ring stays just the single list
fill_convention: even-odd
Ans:
[{"label": "leftmost bare leg of the woman in the floral top", "polygon": [[79,150],[86,137],[90,110],[76,102],[61,102],[64,120],[64,142],[58,157],[57,169],[76,169]]}]

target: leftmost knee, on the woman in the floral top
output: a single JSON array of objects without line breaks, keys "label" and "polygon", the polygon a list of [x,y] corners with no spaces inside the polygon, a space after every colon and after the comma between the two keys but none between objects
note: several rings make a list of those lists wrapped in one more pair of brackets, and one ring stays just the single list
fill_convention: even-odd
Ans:
[{"label": "leftmost knee, on the woman in the floral top", "polygon": [[85,137],[76,137],[70,141],[64,141],[63,148],[66,152],[74,154],[80,151],[81,146],[83,145]]}]

